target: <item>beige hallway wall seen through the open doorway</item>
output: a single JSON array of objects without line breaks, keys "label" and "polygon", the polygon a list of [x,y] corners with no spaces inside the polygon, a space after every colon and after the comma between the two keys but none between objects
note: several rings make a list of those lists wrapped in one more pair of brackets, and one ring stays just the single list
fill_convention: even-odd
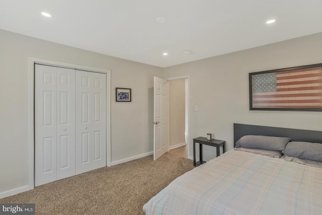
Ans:
[{"label": "beige hallway wall seen through the open doorway", "polygon": [[169,81],[169,146],[185,143],[185,79]]}]

